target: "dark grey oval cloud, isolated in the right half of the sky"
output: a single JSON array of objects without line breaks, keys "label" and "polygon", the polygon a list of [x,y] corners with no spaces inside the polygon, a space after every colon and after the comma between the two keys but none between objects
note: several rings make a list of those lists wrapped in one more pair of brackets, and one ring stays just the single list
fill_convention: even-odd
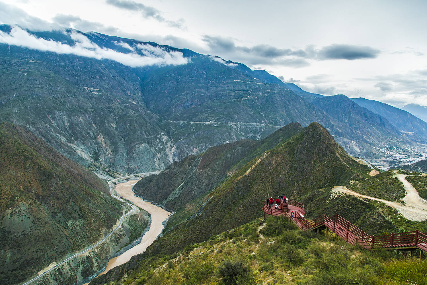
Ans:
[{"label": "dark grey oval cloud, isolated in the right half of the sky", "polygon": [[372,47],[361,47],[350,44],[332,44],[318,52],[319,59],[374,59],[380,53]]}]

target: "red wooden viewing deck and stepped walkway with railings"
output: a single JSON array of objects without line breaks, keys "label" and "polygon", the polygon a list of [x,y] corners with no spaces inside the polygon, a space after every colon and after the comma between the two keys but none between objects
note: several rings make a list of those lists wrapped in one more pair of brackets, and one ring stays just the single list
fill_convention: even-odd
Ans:
[{"label": "red wooden viewing deck and stepped walkway with railings", "polygon": [[[338,214],[332,217],[322,215],[309,221],[304,217],[304,204],[295,200],[288,200],[287,202],[287,205],[283,205],[282,203],[276,210],[274,206],[267,206],[266,201],[264,201],[263,212],[273,216],[287,217],[302,230],[329,229],[336,236],[339,236],[348,243],[358,244],[367,249],[382,247],[386,250],[412,250],[418,248],[427,252],[427,233],[425,232],[416,230],[413,232],[371,236]],[[294,212],[293,217],[290,214],[292,211]]]}]

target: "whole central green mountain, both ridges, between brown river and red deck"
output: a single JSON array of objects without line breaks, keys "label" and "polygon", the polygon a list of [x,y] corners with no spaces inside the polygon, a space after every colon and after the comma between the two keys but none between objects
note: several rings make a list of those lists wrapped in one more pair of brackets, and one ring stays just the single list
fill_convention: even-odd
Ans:
[{"label": "whole central green mountain, both ridges, between brown river and red deck", "polygon": [[[239,161],[242,149],[248,156]],[[231,229],[260,217],[263,200],[281,194],[304,203],[308,219],[338,213],[372,234],[425,230],[427,223],[409,221],[385,204],[332,191],[342,185],[355,191],[380,189],[377,195],[381,198],[400,197],[401,189],[395,185],[403,187],[392,174],[376,178],[370,172],[369,166],[348,156],[318,123],[305,128],[290,124],[258,142],[235,142],[188,157],[157,177],[141,179],[134,187],[138,195],[173,207],[162,237],[146,253],[91,284],[120,280],[125,273],[131,279],[139,278],[141,270],[164,264],[165,256],[178,257],[180,250],[187,252],[195,243],[211,242],[221,232],[230,231],[228,235],[234,239]]]}]

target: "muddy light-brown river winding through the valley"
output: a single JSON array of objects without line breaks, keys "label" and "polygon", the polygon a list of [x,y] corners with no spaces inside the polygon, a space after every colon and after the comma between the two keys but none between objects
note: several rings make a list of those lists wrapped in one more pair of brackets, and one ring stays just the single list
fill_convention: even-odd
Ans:
[{"label": "muddy light-brown river winding through the valley", "polygon": [[[146,210],[151,215],[151,225],[150,229],[143,236],[140,244],[135,247],[130,248],[129,250],[122,253],[120,256],[114,257],[108,261],[107,267],[99,275],[105,274],[111,268],[116,267],[117,265],[124,264],[128,262],[132,256],[137,255],[138,253],[143,253],[147,247],[155,241],[158,235],[160,235],[163,229],[164,220],[169,217],[171,214],[161,207],[155,206],[152,203],[146,202],[139,197],[135,197],[135,193],[132,191],[132,186],[136,184],[138,180],[129,180],[127,182],[118,183],[115,190],[117,194],[123,196],[124,199],[132,201],[136,206]],[[98,276],[99,276],[98,275]],[[88,284],[88,283],[86,283]]]}]

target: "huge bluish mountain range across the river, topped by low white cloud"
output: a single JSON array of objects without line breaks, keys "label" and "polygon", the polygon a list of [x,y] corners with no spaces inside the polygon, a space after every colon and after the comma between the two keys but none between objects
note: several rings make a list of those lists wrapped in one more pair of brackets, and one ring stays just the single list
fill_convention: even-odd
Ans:
[{"label": "huge bluish mountain range across the river, topped by low white cloud", "polygon": [[[8,35],[11,29],[0,26]],[[219,57],[71,29],[23,33],[66,51],[0,44],[0,120],[28,127],[83,165],[163,170],[211,146],[265,138],[291,122],[316,121],[348,153],[366,159],[384,156],[375,149],[379,143],[409,148],[427,141],[427,123],[409,113],[312,94]],[[90,56],[96,51],[104,58]],[[142,59],[147,63],[138,66]],[[405,121],[395,113],[407,114],[399,117]]]}]

